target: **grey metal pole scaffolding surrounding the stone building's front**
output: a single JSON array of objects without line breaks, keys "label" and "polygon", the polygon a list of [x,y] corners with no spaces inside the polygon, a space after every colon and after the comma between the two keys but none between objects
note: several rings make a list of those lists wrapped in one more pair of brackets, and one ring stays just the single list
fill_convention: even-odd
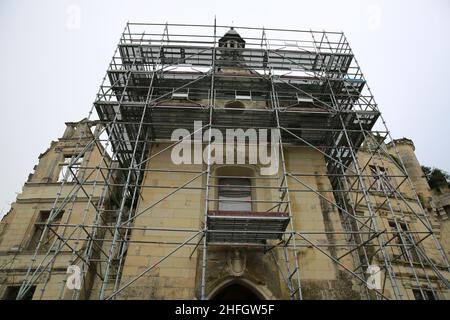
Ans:
[{"label": "grey metal pole scaffolding surrounding the stone building's front", "polygon": [[[344,34],[237,26],[234,29],[243,35],[245,47],[221,46],[219,35],[225,34],[229,26],[215,22],[213,25],[127,23],[89,112],[88,119],[95,120],[102,129],[92,134],[89,143],[82,143],[80,138],[78,156],[74,156],[69,165],[72,172],[75,169],[78,172],[71,191],[58,194],[45,223],[45,229],[55,234],[55,240],[44,255],[40,248],[43,239],[39,241],[18,299],[23,298],[38,279],[51,276],[52,264],[64,249],[72,252],[70,261],[80,263],[83,281],[90,270],[100,279],[98,296],[91,298],[115,299],[186,246],[191,247],[192,252],[198,250],[201,256],[199,298],[206,299],[209,248],[241,244],[262,247],[266,253],[273,252],[274,248],[284,252],[284,260],[278,262],[278,267],[292,299],[303,298],[297,255],[302,247],[317,250],[351,275],[367,299],[387,298],[387,287],[392,288],[392,298],[405,298],[396,274],[399,260],[410,268],[418,285],[425,281],[427,290],[436,290],[433,281],[438,281],[442,290],[450,288],[443,275],[450,270],[447,257],[400,156],[397,153],[394,159],[383,148],[384,141],[392,140],[392,137]],[[234,63],[230,64],[229,59],[222,58],[227,54],[238,55],[239,61],[232,59]],[[241,72],[235,75],[220,72],[227,67]],[[262,101],[265,108],[217,107],[219,100],[240,99]],[[384,129],[373,131],[379,119]],[[200,129],[194,127],[195,121],[202,122]],[[178,128],[186,128],[192,133],[153,152],[156,143],[171,141],[172,132]],[[264,203],[265,211],[247,214],[215,209],[213,204],[218,199],[213,197],[213,191],[219,185],[213,180],[220,176],[212,172],[211,130],[204,143],[208,150],[204,170],[174,171],[153,169],[150,165],[163,152],[170,152],[197,132],[208,132],[212,128],[221,131],[227,128],[275,129],[280,133],[276,141],[280,146],[278,174],[266,178],[248,177],[270,180],[266,186],[254,187],[276,193],[276,197],[252,200]],[[369,141],[375,142],[370,144]],[[357,153],[368,144],[369,161],[361,163]],[[80,165],[78,160],[95,146],[102,150],[99,162]],[[326,174],[288,170],[284,154],[287,147],[312,148],[323,155]],[[385,199],[381,205],[373,201],[375,182],[370,183],[371,176],[364,173],[375,158],[396,161],[402,171],[401,175],[395,176],[401,183],[379,190],[379,195]],[[91,179],[80,175],[82,172],[88,172]],[[138,203],[143,190],[164,188],[143,184],[144,177],[154,172],[177,174],[187,180],[179,186],[166,186],[166,196],[142,208]],[[331,190],[311,187],[307,178],[315,176],[327,177]],[[394,176],[388,173],[380,179],[388,181],[390,177]],[[204,194],[201,228],[134,225],[137,217],[180,190],[195,189],[192,182],[202,179],[206,183],[197,188]],[[62,182],[61,190],[66,184],[67,181]],[[303,188],[290,188],[290,184],[300,184]],[[408,185],[414,192],[414,207],[399,191],[403,185]],[[99,192],[100,200],[94,202],[96,192]],[[290,196],[301,192],[319,197],[339,211],[345,241],[318,243],[314,240],[315,234],[338,232],[295,227]],[[70,211],[80,193],[88,199],[82,222],[55,223],[53,219],[64,210]],[[332,194],[335,201],[330,201],[326,194]],[[365,214],[358,215],[361,207]],[[406,213],[399,208],[405,207],[409,209],[407,214],[412,213],[423,224],[425,232],[402,227]],[[395,230],[379,225],[381,210],[387,211],[387,216],[393,219]],[[85,223],[88,212],[94,212],[94,218]],[[123,283],[121,272],[135,230],[180,233],[186,237],[184,241],[170,243],[174,248],[165,257]],[[399,238],[402,241],[397,241]],[[444,261],[442,264],[430,259],[423,249],[422,242],[427,238],[433,240]],[[77,247],[80,239],[86,241],[82,250]],[[345,253],[339,257],[331,255],[327,249],[332,246],[345,250]],[[401,251],[395,251],[398,249]],[[346,256],[352,257],[354,268],[342,262]],[[370,291],[366,270],[374,256],[378,257],[384,275],[383,288]],[[433,279],[437,280],[431,279],[430,270]],[[65,281],[61,283],[60,298],[64,286]],[[425,298],[423,286],[418,287]],[[72,298],[79,297],[80,292],[74,291]]]}]

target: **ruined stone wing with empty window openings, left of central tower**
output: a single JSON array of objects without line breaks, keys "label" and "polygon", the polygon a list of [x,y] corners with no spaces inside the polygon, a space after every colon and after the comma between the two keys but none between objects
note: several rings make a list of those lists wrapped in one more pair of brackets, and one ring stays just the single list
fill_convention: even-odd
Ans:
[{"label": "ruined stone wing with empty window openings, left of central tower", "polygon": [[[67,266],[77,265],[81,253],[86,250],[86,233],[73,226],[83,224],[86,228],[94,223],[93,207],[109,206],[110,203],[96,203],[101,198],[102,189],[94,189],[89,182],[100,181],[95,175],[95,166],[104,152],[101,146],[92,144],[99,125],[92,121],[66,123],[64,135],[53,141],[50,147],[39,156],[39,163],[25,182],[22,192],[17,196],[10,211],[3,217],[0,228],[1,294],[3,299],[15,299],[24,277],[33,275],[29,270],[31,261],[39,261],[50,272],[36,274],[33,285],[25,298],[33,299],[69,299],[71,292],[61,287],[67,278]],[[82,156],[80,156],[82,155]],[[74,166],[68,169],[70,161]],[[81,166],[84,169],[79,169]],[[91,169],[86,169],[91,166]],[[83,188],[73,193],[73,202],[64,211],[52,210],[56,207],[58,196],[64,197],[77,187],[75,179],[86,181]],[[62,181],[64,180],[64,184]],[[87,201],[88,195],[94,202]],[[106,199],[110,199],[107,194]],[[50,216],[52,215],[52,216]],[[53,217],[53,218],[52,218]],[[49,228],[47,221],[52,219]],[[65,245],[57,244],[65,237]],[[52,250],[60,254],[52,259]],[[98,255],[94,249],[89,253]],[[96,266],[85,270],[85,289],[80,292],[82,298],[88,298],[92,287],[90,273]],[[42,286],[45,284],[45,290]]]}]

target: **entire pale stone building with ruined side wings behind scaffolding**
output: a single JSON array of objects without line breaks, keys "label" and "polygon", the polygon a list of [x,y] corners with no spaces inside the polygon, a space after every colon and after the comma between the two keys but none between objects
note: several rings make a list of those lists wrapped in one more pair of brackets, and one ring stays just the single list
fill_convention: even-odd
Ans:
[{"label": "entire pale stone building with ruined side wings behind scaffolding", "polygon": [[[113,59],[111,86],[96,101],[100,120],[67,123],[1,222],[0,297],[450,298],[445,199],[429,190],[412,142],[385,144],[386,137],[369,134],[379,116],[371,105],[352,110],[338,97],[342,114],[325,108],[335,103],[326,100],[330,88],[357,104],[352,90],[365,83],[342,77],[352,61],[346,42],[328,58],[320,50],[315,60],[305,51],[286,53],[317,74],[325,69],[347,81],[332,85],[317,75],[258,73],[253,56],[245,56],[248,43],[231,28],[212,54],[214,94],[200,94],[210,82],[192,91],[176,87],[207,73],[158,73],[145,62],[158,53],[161,65],[175,55],[184,65],[191,47],[138,50],[127,39],[122,65]],[[264,68],[278,54],[258,52]],[[285,57],[280,61],[275,67],[284,68]],[[299,95],[295,85],[315,96]],[[148,88],[165,98],[150,111]],[[263,174],[267,163],[250,161],[245,138],[230,149],[244,163],[212,163],[208,130],[191,141],[202,155],[207,145],[207,161],[175,163],[182,143],[170,140],[167,128],[191,120],[209,120],[210,129],[283,127],[272,138],[280,149],[276,172]],[[375,290],[371,266],[381,266]]]}]

